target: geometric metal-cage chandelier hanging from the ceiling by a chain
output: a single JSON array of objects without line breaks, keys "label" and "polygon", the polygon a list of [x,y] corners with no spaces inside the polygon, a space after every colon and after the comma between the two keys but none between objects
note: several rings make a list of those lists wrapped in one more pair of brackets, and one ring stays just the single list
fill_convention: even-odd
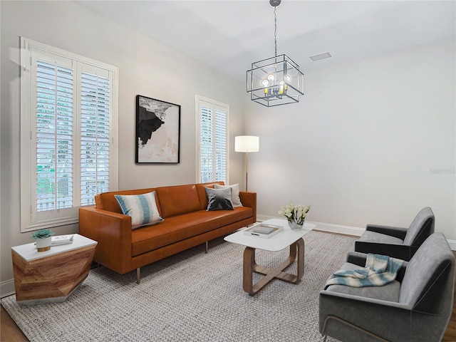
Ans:
[{"label": "geometric metal-cage chandelier hanging from the ceiling by a chain", "polygon": [[275,55],[252,63],[247,71],[247,93],[252,101],[274,107],[299,102],[304,95],[304,73],[299,65],[284,55],[277,56],[277,6],[281,0],[269,0],[274,7],[274,46]]}]

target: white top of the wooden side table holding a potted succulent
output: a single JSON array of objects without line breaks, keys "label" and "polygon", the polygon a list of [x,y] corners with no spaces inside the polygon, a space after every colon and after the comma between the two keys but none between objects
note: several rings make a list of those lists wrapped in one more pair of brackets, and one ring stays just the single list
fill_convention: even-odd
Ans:
[{"label": "white top of the wooden side table holding a potted succulent", "polygon": [[88,237],[83,237],[79,234],[66,234],[66,235],[73,235],[73,243],[71,244],[61,244],[58,246],[51,246],[51,249],[45,252],[38,252],[36,249],[35,242],[31,242],[30,244],[21,244],[20,246],[11,247],[17,254],[19,254],[23,259],[26,261],[32,261],[36,259],[41,259],[44,257],[50,257],[51,255],[72,251],[73,249],[79,249],[83,247],[92,246],[93,244],[97,244],[93,239],[89,239]]}]

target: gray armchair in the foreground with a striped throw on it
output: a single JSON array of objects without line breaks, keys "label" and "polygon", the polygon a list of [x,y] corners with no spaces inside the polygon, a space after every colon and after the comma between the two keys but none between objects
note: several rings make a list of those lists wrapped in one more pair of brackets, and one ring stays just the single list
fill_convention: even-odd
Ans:
[{"label": "gray armchair in the foreground with a striped throw on it", "polygon": [[[350,252],[341,269],[365,266],[366,254]],[[320,292],[323,336],[344,342],[441,341],[454,300],[455,256],[442,233],[432,234],[390,284],[331,285]]]}]

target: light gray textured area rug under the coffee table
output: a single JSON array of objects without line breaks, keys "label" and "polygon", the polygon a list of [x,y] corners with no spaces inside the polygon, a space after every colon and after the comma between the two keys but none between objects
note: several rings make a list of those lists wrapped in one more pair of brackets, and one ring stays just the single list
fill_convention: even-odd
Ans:
[{"label": "light gray textured area rug under the coffee table", "polygon": [[[355,239],[309,232],[304,240],[299,284],[275,279],[256,296],[242,289],[244,247],[216,239],[208,254],[202,245],[143,267],[140,284],[135,272],[100,266],[63,303],[9,296],[1,305],[30,341],[323,341],[318,292]],[[288,254],[257,251],[257,263],[276,266]]]}]

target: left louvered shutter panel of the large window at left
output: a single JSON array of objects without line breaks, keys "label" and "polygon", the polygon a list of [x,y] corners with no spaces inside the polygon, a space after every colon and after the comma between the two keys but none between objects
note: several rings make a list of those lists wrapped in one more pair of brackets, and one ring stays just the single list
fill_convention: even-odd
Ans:
[{"label": "left louvered shutter panel of the large window at left", "polygon": [[56,59],[36,63],[35,177],[37,212],[73,206],[73,73]]}]

